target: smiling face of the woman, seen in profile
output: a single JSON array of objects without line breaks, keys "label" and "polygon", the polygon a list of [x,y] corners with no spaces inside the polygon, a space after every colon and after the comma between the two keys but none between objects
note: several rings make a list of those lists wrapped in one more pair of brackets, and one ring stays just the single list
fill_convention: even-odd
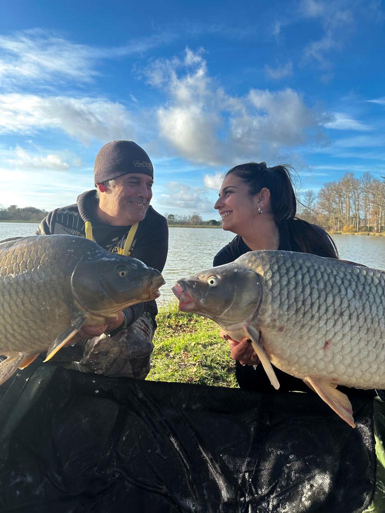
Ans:
[{"label": "smiling face of the woman, seen in profile", "polygon": [[241,234],[245,227],[251,226],[258,214],[258,201],[258,194],[249,194],[248,186],[239,176],[228,174],[214,205],[221,215],[223,230]]}]

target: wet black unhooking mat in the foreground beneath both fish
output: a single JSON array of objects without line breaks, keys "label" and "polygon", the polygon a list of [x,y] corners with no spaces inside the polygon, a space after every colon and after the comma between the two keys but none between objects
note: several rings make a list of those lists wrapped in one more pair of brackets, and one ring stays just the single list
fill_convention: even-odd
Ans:
[{"label": "wet black unhooking mat in the foreground beneath both fish", "polygon": [[313,393],[23,372],[0,403],[2,512],[358,513],[371,502],[373,401],[359,394],[352,429]]}]

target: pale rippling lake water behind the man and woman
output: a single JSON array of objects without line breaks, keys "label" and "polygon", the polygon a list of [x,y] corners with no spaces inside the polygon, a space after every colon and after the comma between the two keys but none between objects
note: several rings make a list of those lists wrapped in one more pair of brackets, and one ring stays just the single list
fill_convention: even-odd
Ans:
[{"label": "pale rippling lake water behind the man and woman", "polygon": [[[0,240],[33,235],[37,223],[0,223]],[[170,228],[169,250],[158,304],[174,300],[171,287],[177,279],[211,267],[214,255],[234,237],[233,233],[215,228]],[[367,235],[334,235],[341,259],[385,269],[385,237]]]}]

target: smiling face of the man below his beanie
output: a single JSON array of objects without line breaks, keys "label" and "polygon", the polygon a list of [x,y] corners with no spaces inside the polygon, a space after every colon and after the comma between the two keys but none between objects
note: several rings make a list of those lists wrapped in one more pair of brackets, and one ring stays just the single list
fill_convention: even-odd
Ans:
[{"label": "smiling face of the man below his beanie", "polygon": [[104,200],[108,210],[124,224],[142,221],[152,198],[153,180],[148,174],[128,173],[119,176],[112,187],[108,187]]}]

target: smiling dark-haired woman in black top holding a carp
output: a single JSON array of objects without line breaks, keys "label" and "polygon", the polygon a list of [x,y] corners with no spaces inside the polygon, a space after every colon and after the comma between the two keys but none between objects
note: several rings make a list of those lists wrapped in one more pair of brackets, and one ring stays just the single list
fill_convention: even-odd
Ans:
[{"label": "smiling dark-haired woman in black top holding a carp", "polygon": [[[214,266],[233,262],[247,251],[272,249],[313,253],[338,258],[337,248],[320,226],[297,219],[297,200],[286,166],[267,167],[264,162],[241,164],[227,171],[217,209],[222,228],[237,236],[214,258]],[[257,354],[248,339],[229,340],[236,360],[236,378],[241,388],[273,391]],[[290,341],[288,341],[290,343]],[[280,390],[306,390],[302,380],[275,369]]]}]

